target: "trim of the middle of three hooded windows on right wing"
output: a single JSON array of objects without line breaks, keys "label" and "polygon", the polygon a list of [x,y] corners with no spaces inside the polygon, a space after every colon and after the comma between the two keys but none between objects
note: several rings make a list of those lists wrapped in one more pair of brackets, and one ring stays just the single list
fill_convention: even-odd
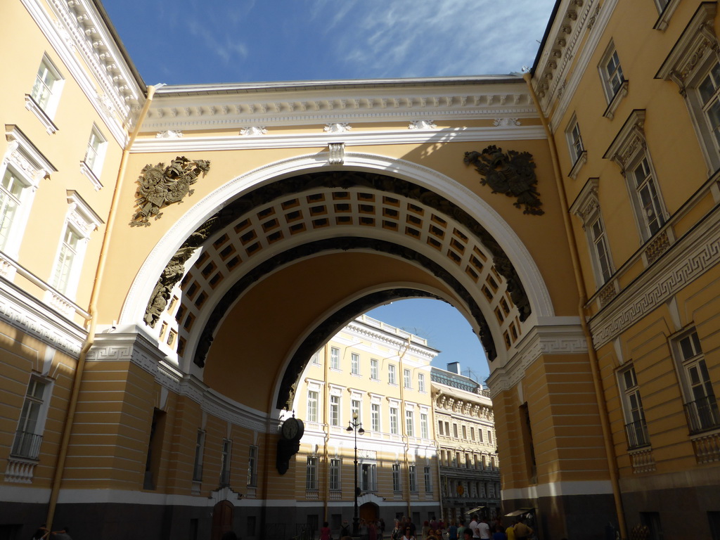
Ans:
[{"label": "trim of the middle of three hooded windows on right wing", "polygon": [[610,145],[610,148],[606,151],[603,158],[611,159],[620,167],[621,174],[625,178],[625,186],[628,190],[628,195],[631,201],[631,207],[633,215],[635,217],[635,225],[637,227],[638,235],[641,239],[641,243],[647,242],[656,233],[651,233],[647,223],[645,222],[644,216],[641,215],[639,208],[639,200],[636,187],[634,186],[634,179],[631,178],[631,173],[634,171],[636,166],[643,159],[647,159],[650,173],[654,181],[655,191],[657,194],[657,202],[660,206],[660,217],[662,223],[660,229],[662,230],[663,225],[667,223],[668,215],[665,210],[665,203],[662,200],[662,192],[660,190],[660,182],[657,179],[657,173],[655,172],[652,164],[652,158],[647,150],[647,141],[645,140],[644,132],[645,122],[645,111],[644,109],[635,109],[630,113],[628,119],[625,121],[615,140]]}]

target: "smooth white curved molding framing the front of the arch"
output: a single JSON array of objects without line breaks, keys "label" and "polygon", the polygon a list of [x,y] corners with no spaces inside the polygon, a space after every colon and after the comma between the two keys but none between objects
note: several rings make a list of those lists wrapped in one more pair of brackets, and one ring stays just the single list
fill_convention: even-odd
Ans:
[{"label": "smooth white curved molding framing the front of the arch", "polygon": [[527,248],[498,212],[477,194],[449,176],[411,161],[378,154],[346,153],[343,166],[328,166],[327,157],[328,153],[326,152],[315,153],[269,163],[235,177],[194,204],[168,229],[163,238],[150,251],[148,258],[145,259],[132,282],[118,323],[120,325],[145,326],[143,321],[145,308],[158,276],[186,238],[218,210],[236,197],[258,186],[319,170],[372,171],[397,176],[442,195],[471,215],[498,241],[520,276],[532,308],[531,316],[534,318],[554,316],[549,291]]}]

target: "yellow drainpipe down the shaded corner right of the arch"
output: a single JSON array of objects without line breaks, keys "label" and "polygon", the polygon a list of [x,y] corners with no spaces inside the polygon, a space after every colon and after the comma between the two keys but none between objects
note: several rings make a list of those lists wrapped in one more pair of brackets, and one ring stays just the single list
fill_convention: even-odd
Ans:
[{"label": "yellow drainpipe down the shaded corner right of the arch", "polygon": [[567,204],[567,196],[564,191],[562,184],[562,173],[560,172],[560,162],[557,156],[557,147],[555,145],[555,138],[550,130],[549,123],[545,117],[538,96],[535,94],[535,89],[532,85],[531,73],[523,73],[523,79],[528,85],[528,90],[532,96],[535,107],[540,117],[540,122],[547,135],[547,140],[550,148],[550,156],[552,158],[552,169],[555,176],[555,184],[557,184],[557,194],[560,199],[560,208],[562,210],[562,222],[565,228],[565,235],[567,236],[567,243],[570,248],[570,256],[572,258],[572,271],[575,274],[575,284],[577,287],[577,294],[580,297],[577,303],[577,312],[580,315],[580,326],[582,327],[582,333],[585,335],[585,343],[588,346],[588,356],[590,356],[590,368],[593,373],[593,386],[595,387],[595,400],[598,402],[598,410],[600,410],[600,426],[603,429],[603,438],[605,441],[605,454],[608,460],[608,470],[610,472],[610,482],[613,487],[613,498],[615,500],[615,511],[618,517],[618,526],[620,528],[621,538],[627,538],[627,531],[625,527],[625,512],[623,510],[623,501],[620,495],[620,482],[618,480],[618,464],[613,449],[613,434],[610,430],[610,420],[608,419],[608,408],[605,401],[605,390],[603,389],[602,379],[600,378],[600,365],[598,362],[598,351],[595,351],[593,345],[593,336],[590,333],[588,327],[588,320],[585,317],[585,303],[588,301],[588,292],[585,290],[585,279],[582,277],[582,267],[580,266],[580,256],[577,254],[577,244],[575,243],[575,235],[572,233],[572,225],[570,223],[570,210]]}]

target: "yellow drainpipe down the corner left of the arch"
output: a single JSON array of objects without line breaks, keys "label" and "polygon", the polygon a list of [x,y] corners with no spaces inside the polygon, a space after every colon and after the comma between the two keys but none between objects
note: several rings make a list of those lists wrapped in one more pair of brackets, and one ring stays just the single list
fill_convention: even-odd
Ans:
[{"label": "yellow drainpipe down the corner left of the arch", "polygon": [[83,373],[85,370],[85,359],[87,358],[88,351],[95,342],[95,327],[96,327],[96,312],[97,312],[97,297],[100,291],[100,284],[102,283],[102,276],[105,271],[105,262],[107,261],[107,246],[109,244],[110,230],[112,230],[115,216],[117,215],[117,204],[120,199],[120,189],[122,188],[122,179],[125,176],[125,168],[127,166],[127,158],[130,155],[130,148],[132,143],[135,142],[135,138],[140,132],[140,127],[143,125],[145,115],[148,114],[150,104],[153,102],[153,96],[155,95],[156,89],[164,84],[158,86],[148,86],[148,96],[143,104],[143,109],[140,111],[138,121],[135,123],[135,130],[132,131],[130,139],[127,140],[125,148],[122,150],[122,158],[120,158],[120,168],[117,171],[117,180],[115,181],[115,189],[112,192],[112,201],[110,202],[110,209],[107,215],[107,225],[105,226],[105,233],[102,237],[102,246],[100,248],[100,255],[97,261],[97,268],[95,270],[95,279],[92,286],[92,292],[90,294],[90,304],[88,307],[88,313],[90,314],[89,319],[86,321],[86,327],[88,329],[87,337],[80,349],[80,356],[78,356],[78,363],[75,368],[75,378],[73,379],[73,389],[70,395],[70,402],[68,402],[68,414],[65,419],[65,426],[63,427],[63,438],[60,439],[60,450],[58,451],[58,462],[55,465],[55,473],[53,474],[53,487],[50,490],[50,502],[48,503],[48,517],[45,520],[47,527],[50,531],[53,530],[53,518],[55,517],[55,508],[58,505],[58,497],[60,495],[60,484],[63,481],[63,473],[65,472],[65,461],[68,456],[68,445],[70,442],[70,435],[73,428],[73,422],[75,420],[75,411],[78,405],[78,395],[80,394],[80,384],[83,379]]}]

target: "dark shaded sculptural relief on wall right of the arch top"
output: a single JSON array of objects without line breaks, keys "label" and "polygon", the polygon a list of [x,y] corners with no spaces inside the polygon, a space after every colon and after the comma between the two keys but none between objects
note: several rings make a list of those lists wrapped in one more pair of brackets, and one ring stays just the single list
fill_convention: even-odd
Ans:
[{"label": "dark shaded sculptural relief on wall right of the arch top", "polygon": [[504,193],[516,197],[513,206],[524,205],[523,214],[542,215],[539,193],[535,189],[538,183],[535,176],[535,163],[529,152],[509,150],[490,145],[482,152],[466,152],[466,165],[474,165],[475,170],[485,178],[480,180],[483,186],[490,186],[492,193]]}]

